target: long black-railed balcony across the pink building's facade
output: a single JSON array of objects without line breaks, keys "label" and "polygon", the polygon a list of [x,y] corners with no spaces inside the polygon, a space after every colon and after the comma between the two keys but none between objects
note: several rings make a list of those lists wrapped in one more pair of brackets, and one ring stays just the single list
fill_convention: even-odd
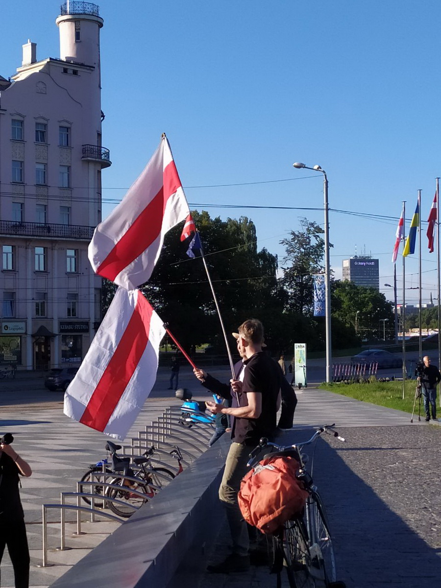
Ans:
[{"label": "long black-railed balcony across the pink building's facade", "polygon": [[92,239],[93,226],[83,225],[55,225],[39,222],[16,222],[15,220],[0,220],[0,235],[37,237],[42,239]]}]

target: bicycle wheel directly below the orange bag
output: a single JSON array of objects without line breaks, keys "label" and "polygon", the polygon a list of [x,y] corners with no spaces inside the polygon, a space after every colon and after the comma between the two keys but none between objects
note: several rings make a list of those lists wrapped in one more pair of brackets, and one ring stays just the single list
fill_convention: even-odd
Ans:
[{"label": "bicycle wheel directly below the orange bag", "polygon": [[315,588],[315,579],[310,574],[312,560],[308,538],[302,519],[290,520],[283,529],[283,557],[291,588]]}]

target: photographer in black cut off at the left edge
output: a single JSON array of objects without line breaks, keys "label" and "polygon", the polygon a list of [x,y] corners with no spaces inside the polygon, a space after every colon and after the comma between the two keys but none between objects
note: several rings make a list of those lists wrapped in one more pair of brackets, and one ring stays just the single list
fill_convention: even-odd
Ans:
[{"label": "photographer in black cut off at the left edge", "polygon": [[32,470],[11,447],[13,441],[11,433],[0,439],[0,562],[8,546],[15,588],[28,588],[29,548],[18,485],[19,475],[29,477]]}]

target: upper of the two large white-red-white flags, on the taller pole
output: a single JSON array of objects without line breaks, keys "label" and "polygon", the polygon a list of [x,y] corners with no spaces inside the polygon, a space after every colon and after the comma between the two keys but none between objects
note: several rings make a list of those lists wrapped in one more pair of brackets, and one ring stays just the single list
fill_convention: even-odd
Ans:
[{"label": "upper of the two large white-red-white flags, on the taller pole", "polygon": [[122,201],[96,227],[89,243],[93,271],[131,290],[146,282],[165,233],[190,214],[165,135]]}]

